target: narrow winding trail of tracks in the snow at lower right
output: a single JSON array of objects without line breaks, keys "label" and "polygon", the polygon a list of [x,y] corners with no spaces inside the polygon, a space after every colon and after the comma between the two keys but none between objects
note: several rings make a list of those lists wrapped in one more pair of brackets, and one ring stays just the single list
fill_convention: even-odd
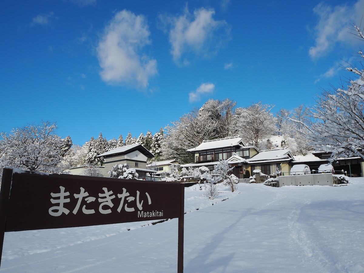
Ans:
[{"label": "narrow winding trail of tracks in the snow at lower right", "polygon": [[[302,263],[314,262],[317,265],[317,272],[348,272],[345,267],[335,262],[331,255],[320,248],[317,242],[312,241],[304,227],[300,223],[300,215],[302,207],[309,205],[310,200],[300,206],[294,207],[288,216],[288,227],[290,229],[290,237],[302,248],[305,258]],[[320,270],[321,269],[321,270]]]}]

